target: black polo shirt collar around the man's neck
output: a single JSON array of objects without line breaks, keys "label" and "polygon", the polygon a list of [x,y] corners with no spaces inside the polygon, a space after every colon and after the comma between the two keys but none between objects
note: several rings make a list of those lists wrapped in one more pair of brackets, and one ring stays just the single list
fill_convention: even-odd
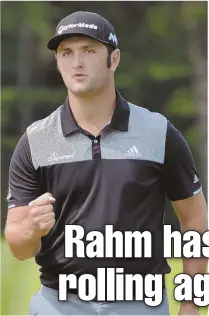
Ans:
[{"label": "black polo shirt collar around the man's neck", "polygon": [[[127,131],[129,114],[130,109],[128,102],[116,90],[116,107],[110,122],[110,127],[119,131]],[[81,128],[73,116],[68,97],[61,108],[61,126],[64,136],[81,131]]]}]

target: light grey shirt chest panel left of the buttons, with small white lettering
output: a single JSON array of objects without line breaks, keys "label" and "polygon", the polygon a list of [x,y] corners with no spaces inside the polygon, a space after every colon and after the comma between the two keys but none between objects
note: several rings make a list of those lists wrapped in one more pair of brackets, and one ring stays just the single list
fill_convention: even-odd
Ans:
[{"label": "light grey shirt chest panel left of the buttons, with small white lettering", "polygon": [[64,137],[61,107],[27,128],[35,169],[53,164],[91,159],[91,141],[81,133]]}]

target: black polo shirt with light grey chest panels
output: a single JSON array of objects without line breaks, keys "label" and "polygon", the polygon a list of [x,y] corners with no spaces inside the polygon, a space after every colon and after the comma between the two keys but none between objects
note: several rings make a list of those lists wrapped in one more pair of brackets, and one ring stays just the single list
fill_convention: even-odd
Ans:
[{"label": "black polo shirt with light grey chest panels", "polygon": [[[181,133],[159,113],[128,103],[117,92],[109,125],[94,137],[75,122],[68,99],[29,126],[9,169],[9,208],[50,192],[56,224],[36,256],[41,282],[58,289],[58,275],[120,267],[125,273],[166,274],[163,220],[166,197],[189,198],[201,190],[191,151]],[[99,106],[99,105],[98,105]],[[153,236],[152,258],[65,258],[66,224],[85,233],[145,231]]]}]

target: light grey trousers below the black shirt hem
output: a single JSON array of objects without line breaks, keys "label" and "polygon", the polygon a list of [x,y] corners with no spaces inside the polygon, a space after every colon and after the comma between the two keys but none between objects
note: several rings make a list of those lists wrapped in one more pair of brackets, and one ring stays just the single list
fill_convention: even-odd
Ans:
[{"label": "light grey trousers below the black shirt hem", "polygon": [[29,315],[169,315],[166,289],[162,303],[150,307],[141,301],[85,302],[76,294],[67,301],[58,300],[58,291],[41,286],[31,300]]}]

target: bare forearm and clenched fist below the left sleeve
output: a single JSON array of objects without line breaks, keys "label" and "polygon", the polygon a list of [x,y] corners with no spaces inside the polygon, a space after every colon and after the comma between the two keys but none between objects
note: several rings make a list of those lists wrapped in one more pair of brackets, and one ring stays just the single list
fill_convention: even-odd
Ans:
[{"label": "bare forearm and clenched fist below the left sleeve", "polygon": [[39,196],[28,206],[12,208],[8,212],[5,237],[14,257],[30,259],[41,249],[41,237],[55,224],[50,193]]}]

